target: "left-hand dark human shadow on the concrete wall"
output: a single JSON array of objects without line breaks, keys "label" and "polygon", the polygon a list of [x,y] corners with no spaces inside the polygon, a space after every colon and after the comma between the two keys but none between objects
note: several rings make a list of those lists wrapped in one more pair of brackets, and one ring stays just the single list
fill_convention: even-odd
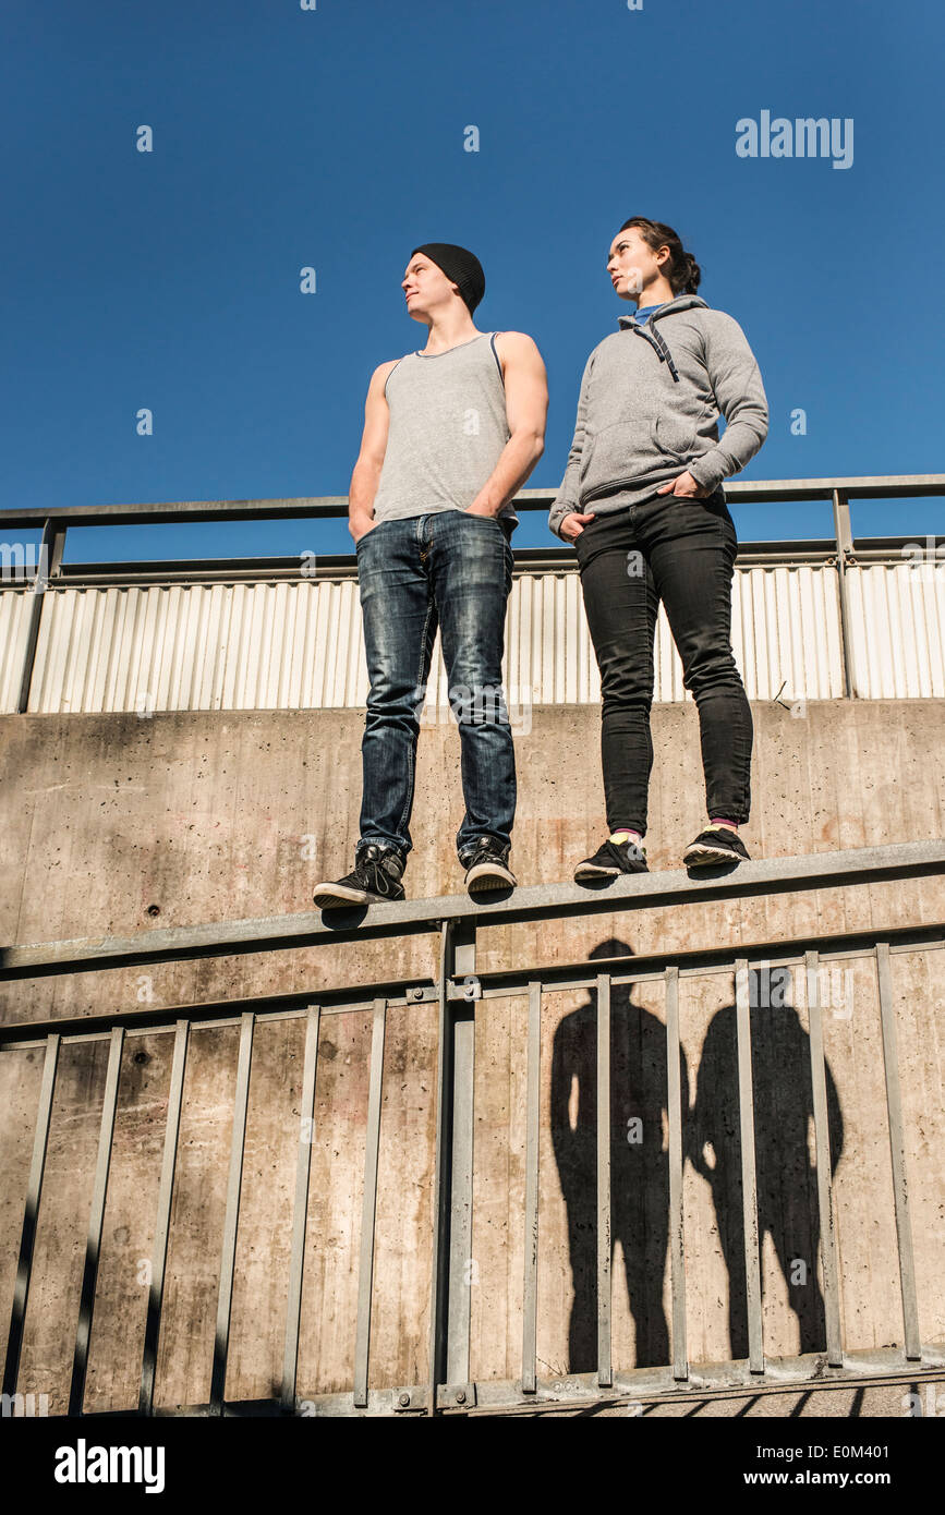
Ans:
[{"label": "left-hand dark human shadow on the concrete wall", "polygon": [[[616,938],[591,961],[632,957]],[[680,1051],[681,1088],[688,1091]],[[686,1094],[683,1095],[686,1098]],[[663,1274],[669,1241],[666,1027],[610,986],[610,1247],[624,1254],[636,1367],[669,1362]],[[568,1210],[569,1373],[597,1367],[597,991],[562,1017],[551,1056],[551,1141]]]}]

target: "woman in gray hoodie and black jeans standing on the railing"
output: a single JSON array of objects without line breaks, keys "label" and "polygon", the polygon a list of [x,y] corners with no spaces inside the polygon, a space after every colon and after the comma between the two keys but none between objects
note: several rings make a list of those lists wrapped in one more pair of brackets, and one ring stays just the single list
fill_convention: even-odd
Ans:
[{"label": "woman in gray hoodie and black jeans standing on the railing", "polygon": [[579,880],[647,871],[660,600],[698,709],[709,811],[683,862],[747,859],[738,827],[751,800],[751,709],[730,642],[738,538],[721,483],[768,435],[762,376],[738,321],[697,295],[698,264],[672,227],[624,221],[607,273],[636,311],[588,359],[548,518],[577,551],[601,673],[609,836],[577,865]]}]

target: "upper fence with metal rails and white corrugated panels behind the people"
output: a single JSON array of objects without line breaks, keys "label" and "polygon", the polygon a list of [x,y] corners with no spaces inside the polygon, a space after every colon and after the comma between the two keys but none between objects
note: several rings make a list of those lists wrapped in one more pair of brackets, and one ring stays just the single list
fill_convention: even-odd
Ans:
[{"label": "upper fence with metal rails and white corrugated panels behind the people", "polygon": [[[943,494],[945,476],[734,482],[725,492],[736,506],[824,500],[833,509],[833,539],[739,544],[733,648],[750,698],[945,695],[945,553],[901,536],[854,541],[850,514],[856,500]],[[545,512],[551,498],[524,489],[515,503],[519,512]],[[345,514],[344,497],[0,512],[0,533],[42,529],[29,591],[24,544],[0,542],[0,709],[362,706],[366,665],[353,554],[62,562],[71,526]],[[572,550],[518,548],[513,577],[504,673],[510,701],[597,701]],[[445,706],[445,671],[439,659],[435,667],[436,698]],[[663,609],[656,670],[657,700],[692,698]]]}]

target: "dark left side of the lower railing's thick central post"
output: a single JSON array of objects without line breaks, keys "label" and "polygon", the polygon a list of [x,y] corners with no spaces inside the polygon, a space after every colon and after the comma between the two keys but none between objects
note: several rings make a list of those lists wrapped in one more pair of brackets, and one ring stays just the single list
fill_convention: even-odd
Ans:
[{"label": "dark left side of the lower railing's thick central post", "polygon": [[453,1167],[453,1027],[447,992],[453,974],[453,921],[444,921],[439,936],[436,1150],[433,1157],[433,1260],[430,1270],[427,1415],[436,1413],[436,1391],[447,1373],[450,1173]]}]

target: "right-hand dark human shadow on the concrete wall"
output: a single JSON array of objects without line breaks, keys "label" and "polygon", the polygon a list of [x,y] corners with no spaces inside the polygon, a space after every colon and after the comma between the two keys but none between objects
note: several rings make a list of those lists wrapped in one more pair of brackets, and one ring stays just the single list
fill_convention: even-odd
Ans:
[{"label": "right-hand dark human shadow on the concrete wall", "polygon": [[[786,968],[748,971],[759,1257],[768,1232],[797,1317],[798,1351],[806,1353],[825,1347],[824,1297],[818,1280],[821,1223],[816,1164],[809,1147],[813,1144],[810,1036],[794,1004],[784,1003],[789,991]],[[728,1271],[733,1359],[748,1356],[736,1014],[734,1004],[725,1004],[712,1018],[700,1057],[695,1106],[686,1123],[688,1156],[712,1188]],[[836,1171],[844,1148],[844,1117],[828,1065],[825,1074],[830,1159]]]}]

